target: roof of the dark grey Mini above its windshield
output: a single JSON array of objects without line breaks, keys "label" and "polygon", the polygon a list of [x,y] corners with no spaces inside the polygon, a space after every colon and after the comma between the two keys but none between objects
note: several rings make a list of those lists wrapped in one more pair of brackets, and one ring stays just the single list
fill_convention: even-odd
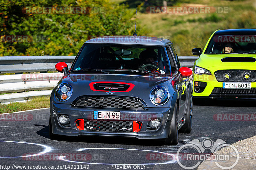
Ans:
[{"label": "roof of the dark grey Mini above its windshield", "polygon": [[151,46],[167,46],[172,42],[168,39],[147,37],[147,36],[103,36],[90,39],[85,43],[97,44],[131,44],[131,45],[151,45]]}]

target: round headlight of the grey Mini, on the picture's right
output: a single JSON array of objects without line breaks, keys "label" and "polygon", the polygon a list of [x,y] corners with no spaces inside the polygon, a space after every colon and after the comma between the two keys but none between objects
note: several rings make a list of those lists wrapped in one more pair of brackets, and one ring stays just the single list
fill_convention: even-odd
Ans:
[{"label": "round headlight of the grey Mini, on the picture's right", "polygon": [[168,91],[164,87],[156,87],[152,89],[149,96],[151,102],[158,106],[165,104],[168,97]]}]

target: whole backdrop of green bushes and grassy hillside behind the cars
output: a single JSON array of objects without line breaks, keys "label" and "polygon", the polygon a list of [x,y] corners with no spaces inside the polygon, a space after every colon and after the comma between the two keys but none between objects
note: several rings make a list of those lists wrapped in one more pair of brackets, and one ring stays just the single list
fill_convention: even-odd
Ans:
[{"label": "whole backdrop of green bushes and grassy hillside behind the cars", "polygon": [[[163,0],[0,0],[0,36],[41,37],[30,43],[0,41],[0,56],[76,55],[92,37],[132,35],[136,5],[137,34],[170,39],[178,55],[191,56],[191,49],[204,48],[217,29],[256,28],[254,0],[166,0],[168,6],[228,7],[228,12],[152,14],[148,6]],[[145,4],[143,4],[145,3]],[[24,7],[89,7],[88,14],[26,14]],[[1,40],[1,39],[0,39]]]}]

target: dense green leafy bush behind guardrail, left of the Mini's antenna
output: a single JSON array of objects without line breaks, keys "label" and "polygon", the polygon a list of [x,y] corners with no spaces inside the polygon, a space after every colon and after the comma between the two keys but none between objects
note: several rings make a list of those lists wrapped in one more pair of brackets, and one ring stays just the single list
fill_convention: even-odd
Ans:
[{"label": "dense green leafy bush behind guardrail, left of the Mini's antenna", "polygon": [[[86,7],[86,13],[35,14],[26,13],[25,7]],[[3,42],[2,36],[0,56],[76,55],[92,37],[131,35],[135,16],[127,5],[108,0],[1,0],[0,11],[0,35],[29,36],[28,42]]]}]

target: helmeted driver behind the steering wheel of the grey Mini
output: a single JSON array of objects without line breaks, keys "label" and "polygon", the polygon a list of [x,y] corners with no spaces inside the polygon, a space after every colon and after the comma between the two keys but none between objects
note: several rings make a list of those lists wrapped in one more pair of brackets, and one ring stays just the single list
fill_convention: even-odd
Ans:
[{"label": "helmeted driver behind the steering wheel of the grey Mini", "polygon": [[158,58],[157,58],[157,54],[154,50],[144,50],[140,53],[139,59],[142,63],[142,67],[144,67],[144,70],[142,71],[150,71],[153,73],[161,73],[161,74],[165,74],[165,72],[163,70],[159,70],[159,68],[157,67],[158,65]]}]

